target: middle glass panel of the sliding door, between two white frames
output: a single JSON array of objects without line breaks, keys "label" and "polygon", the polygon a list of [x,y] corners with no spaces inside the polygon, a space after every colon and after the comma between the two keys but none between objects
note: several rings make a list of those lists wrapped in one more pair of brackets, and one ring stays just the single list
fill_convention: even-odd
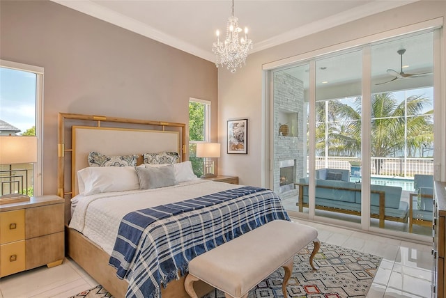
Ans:
[{"label": "middle glass panel of the sliding door, between two white frames", "polygon": [[315,214],[361,222],[362,51],[316,61]]}]

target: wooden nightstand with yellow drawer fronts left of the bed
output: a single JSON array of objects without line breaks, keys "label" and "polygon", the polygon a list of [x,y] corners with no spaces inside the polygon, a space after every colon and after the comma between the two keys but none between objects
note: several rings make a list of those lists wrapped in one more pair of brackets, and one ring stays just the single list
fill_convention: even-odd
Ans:
[{"label": "wooden nightstand with yellow drawer fronts left of the bed", "polygon": [[62,264],[63,205],[59,196],[0,205],[0,277]]}]

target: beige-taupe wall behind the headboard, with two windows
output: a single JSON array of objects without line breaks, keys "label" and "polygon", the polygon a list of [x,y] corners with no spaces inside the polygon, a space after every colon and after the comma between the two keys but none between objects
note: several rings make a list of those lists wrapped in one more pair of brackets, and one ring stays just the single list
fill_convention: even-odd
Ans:
[{"label": "beige-taupe wall behind the headboard, with two windows", "polygon": [[212,102],[217,135],[214,63],[50,1],[0,1],[0,38],[1,59],[45,68],[44,194],[57,191],[59,112],[188,123],[195,97]]}]

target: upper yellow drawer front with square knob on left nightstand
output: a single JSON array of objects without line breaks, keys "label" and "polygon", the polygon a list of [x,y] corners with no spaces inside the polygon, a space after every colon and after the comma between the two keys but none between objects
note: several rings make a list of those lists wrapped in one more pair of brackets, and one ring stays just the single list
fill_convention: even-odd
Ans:
[{"label": "upper yellow drawer front with square knob on left nightstand", "polygon": [[25,239],[25,210],[2,212],[0,217],[0,244]]}]

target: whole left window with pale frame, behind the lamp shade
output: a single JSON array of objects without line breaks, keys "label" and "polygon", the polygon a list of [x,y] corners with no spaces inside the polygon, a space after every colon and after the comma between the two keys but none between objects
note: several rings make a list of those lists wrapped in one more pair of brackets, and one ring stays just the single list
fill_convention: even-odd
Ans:
[{"label": "whole left window with pale frame, behind the lamp shade", "polygon": [[0,60],[0,135],[38,136],[36,164],[0,164],[0,196],[42,194],[42,87],[43,68]]}]

